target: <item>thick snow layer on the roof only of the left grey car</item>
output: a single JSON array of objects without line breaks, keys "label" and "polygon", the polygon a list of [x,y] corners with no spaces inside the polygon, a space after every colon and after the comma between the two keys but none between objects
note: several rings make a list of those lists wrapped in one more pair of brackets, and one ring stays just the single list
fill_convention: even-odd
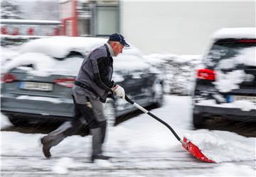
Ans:
[{"label": "thick snow layer on the roof only of the left grey car", "polygon": [[[107,38],[55,36],[27,42],[21,47],[21,52],[38,52],[50,55],[50,57],[64,58],[72,51],[86,55],[106,42]],[[124,47],[123,52],[129,55],[139,55],[139,50],[135,47]]]}]

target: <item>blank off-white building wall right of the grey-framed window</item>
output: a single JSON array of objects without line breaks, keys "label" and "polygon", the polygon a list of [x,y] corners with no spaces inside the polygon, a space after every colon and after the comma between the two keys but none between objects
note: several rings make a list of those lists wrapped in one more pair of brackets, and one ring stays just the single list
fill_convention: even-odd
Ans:
[{"label": "blank off-white building wall right of the grey-framed window", "polygon": [[145,54],[203,55],[219,28],[255,27],[255,1],[122,1],[121,31]]}]

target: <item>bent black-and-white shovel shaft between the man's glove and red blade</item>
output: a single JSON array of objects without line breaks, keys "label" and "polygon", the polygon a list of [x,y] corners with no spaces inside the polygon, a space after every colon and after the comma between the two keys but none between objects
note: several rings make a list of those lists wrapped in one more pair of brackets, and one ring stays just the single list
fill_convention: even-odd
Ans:
[{"label": "bent black-and-white shovel shaft between the man's glove and red blade", "polygon": [[148,110],[146,110],[145,108],[143,108],[142,106],[138,105],[137,103],[135,103],[134,101],[132,101],[131,99],[129,99],[127,96],[124,97],[124,99],[128,102],[131,103],[132,105],[134,105],[135,107],[137,107],[139,110],[142,110],[144,113],[150,115],[152,118],[154,118],[155,120],[161,122],[162,124],[164,124],[166,127],[169,128],[169,130],[171,130],[171,132],[174,134],[174,136],[176,137],[176,139],[178,139],[179,142],[181,142],[183,144],[183,142],[181,141],[181,138],[178,137],[178,135],[176,134],[176,132],[174,131],[174,129],[172,129],[172,127],[167,124],[166,122],[164,122],[164,120],[161,120],[160,118],[158,118],[156,115],[154,115],[153,113],[150,113]]}]

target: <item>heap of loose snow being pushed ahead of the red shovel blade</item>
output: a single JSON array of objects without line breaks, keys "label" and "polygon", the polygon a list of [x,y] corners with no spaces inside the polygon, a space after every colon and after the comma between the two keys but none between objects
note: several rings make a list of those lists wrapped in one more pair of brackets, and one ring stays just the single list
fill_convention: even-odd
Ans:
[{"label": "heap of loose snow being pushed ahead of the red shovel blade", "polygon": [[196,144],[209,159],[223,161],[253,161],[256,159],[255,138],[233,132],[197,130],[185,137]]}]

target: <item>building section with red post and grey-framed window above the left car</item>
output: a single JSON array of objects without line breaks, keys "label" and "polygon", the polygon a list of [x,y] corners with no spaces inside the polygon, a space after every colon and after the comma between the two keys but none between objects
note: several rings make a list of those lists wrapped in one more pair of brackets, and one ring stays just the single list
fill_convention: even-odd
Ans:
[{"label": "building section with red post and grey-framed window above the left car", "polygon": [[60,1],[63,34],[104,37],[119,32],[119,1]]}]

